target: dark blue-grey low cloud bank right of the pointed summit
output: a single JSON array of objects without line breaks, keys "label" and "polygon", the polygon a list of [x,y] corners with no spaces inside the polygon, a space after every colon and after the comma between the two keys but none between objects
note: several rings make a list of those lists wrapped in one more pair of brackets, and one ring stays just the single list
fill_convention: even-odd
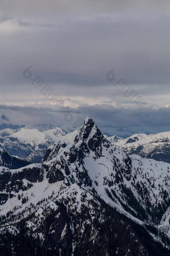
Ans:
[{"label": "dark blue-grey low cloud bank right of the pointed summit", "polygon": [[125,109],[106,104],[79,107],[73,113],[84,118],[90,115],[102,127],[129,127],[129,126],[170,126],[170,108],[160,109]]}]

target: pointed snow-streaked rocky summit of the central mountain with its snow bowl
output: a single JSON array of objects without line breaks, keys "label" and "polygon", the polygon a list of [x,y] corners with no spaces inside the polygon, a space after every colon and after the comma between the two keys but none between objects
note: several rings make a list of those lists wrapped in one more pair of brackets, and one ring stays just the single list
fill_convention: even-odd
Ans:
[{"label": "pointed snow-streaked rocky summit of the central mountain with its snow bowl", "polygon": [[[94,174],[98,177],[99,184],[103,182],[112,184],[113,180],[109,175],[112,174],[114,168],[122,168],[120,176],[127,180],[130,179],[130,159],[104,138],[90,117],[84,120],[77,133],[74,140],[71,139],[73,143],[61,140],[58,144],[48,148],[41,163],[47,170],[49,183],[66,178],[69,184],[76,181],[77,184],[91,187],[91,177],[87,173],[89,170],[92,179],[96,180],[93,177]],[[117,161],[119,161],[119,166],[117,166]],[[93,168],[90,168],[88,163]]]}]

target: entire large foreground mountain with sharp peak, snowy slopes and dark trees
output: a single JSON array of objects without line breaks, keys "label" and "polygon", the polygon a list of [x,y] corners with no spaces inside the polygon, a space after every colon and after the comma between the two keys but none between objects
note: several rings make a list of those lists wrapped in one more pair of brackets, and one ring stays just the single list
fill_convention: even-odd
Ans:
[{"label": "entire large foreground mountain with sharp peak, snowy slopes and dark trees", "polygon": [[87,117],[41,164],[0,168],[1,255],[169,255],[169,168],[128,157]]}]

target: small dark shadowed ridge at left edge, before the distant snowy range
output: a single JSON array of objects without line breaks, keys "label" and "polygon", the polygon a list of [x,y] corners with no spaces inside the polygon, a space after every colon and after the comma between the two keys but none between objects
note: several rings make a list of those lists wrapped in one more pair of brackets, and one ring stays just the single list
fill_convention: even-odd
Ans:
[{"label": "small dark shadowed ridge at left edge, before the distant snowy range", "polygon": [[0,149],[0,166],[4,166],[10,169],[17,169],[28,164],[29,162],[27,162],[25,159],[10,156],[6,151]]}]

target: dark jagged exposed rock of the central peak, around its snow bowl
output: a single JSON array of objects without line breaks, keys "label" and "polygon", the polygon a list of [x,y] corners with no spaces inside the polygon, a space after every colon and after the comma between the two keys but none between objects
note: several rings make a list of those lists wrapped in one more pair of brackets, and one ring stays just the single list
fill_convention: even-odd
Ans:
[{"label": "dark jagged exposed rock of the central peak, around its snow bowl", "polygon": [[[58,181],[56,176],[58,174],[59,178],[61,178],[62,172],[62,180],[66,177],[69,183],[76,181],[78,184],[82,184],[84,181],[84,186],[91,186],[91,179],[86,170],[84,160],[86,161],[87,158],[90,158],[95,163],[95,160],[98,159],[98,161],[101,160],[101,163],[98,164],[105,166],[102,164],[103,154],[105,153],[112,163],[110,172],[112,173],[113,168],[119,179],[122,179],[123,175],[129,180],[131,177],[131,160],[126,154],[123,154],[123,161],[117,165],[115,155],[118,154],[118,151],[115,148],[111,148],[110,143],[103,137],[93,120],[87,117],[80,128],[79,134],[74,139],[74,144],[68,146],[57,144],[53,148],[50,147],[44,156],[42,164],[47,170],[47,177],[50,177],[50,183]],[[52,161],[52,159],[56,160]],[[74,173],[75,175],[73,175]],[[111,177],[103,177],[103,182],[106,185],[114,183]]]}]

